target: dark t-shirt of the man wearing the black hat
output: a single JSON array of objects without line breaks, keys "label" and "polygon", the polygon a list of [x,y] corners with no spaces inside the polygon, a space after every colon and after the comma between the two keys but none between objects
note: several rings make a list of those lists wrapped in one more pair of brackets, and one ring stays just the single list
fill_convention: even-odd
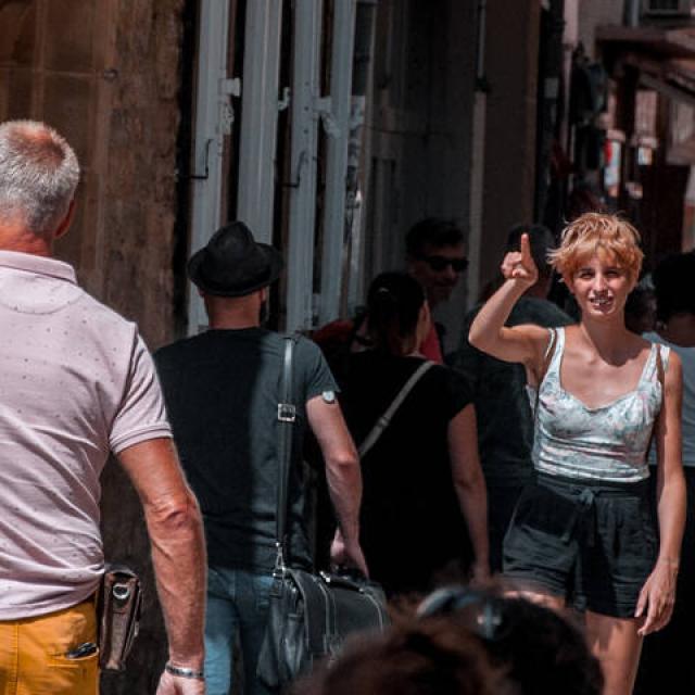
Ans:
[{"label": "dark t-shirt of the man wearing the black hat", "polygon": [[[212,566],[265,572],[275,563],[277,406],[283,338],[262,328],[208,330],[154,358],[181,464],[203,513]],[[288,517],[289,554],[311,564],[301,466],[305,404],[336,382],[320,350],[294,350],[298,406]]]}]

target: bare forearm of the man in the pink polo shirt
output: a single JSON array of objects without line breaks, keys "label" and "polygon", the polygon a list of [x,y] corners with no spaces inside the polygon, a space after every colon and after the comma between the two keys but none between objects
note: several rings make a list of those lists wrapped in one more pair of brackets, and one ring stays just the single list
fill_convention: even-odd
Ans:
[{"label": "bare forearm of the man in the pink polo shirt", "polygon": [[203,526],[192,494],[173,510],[146,513],[152,564],[174,665],[202,669],[206,591]]}]

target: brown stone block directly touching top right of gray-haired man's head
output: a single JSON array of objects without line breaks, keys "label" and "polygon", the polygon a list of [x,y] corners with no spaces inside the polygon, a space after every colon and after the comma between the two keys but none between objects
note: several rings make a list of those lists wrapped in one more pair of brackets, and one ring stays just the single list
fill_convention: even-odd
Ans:
[{"label": "brown stone block directly touching top right of gray-haired man's head", "polygon": [[67,138],[86,166],[92,149],[96,98],[96,85],[88,77],[49,73],[43,78],[43,118]]}]

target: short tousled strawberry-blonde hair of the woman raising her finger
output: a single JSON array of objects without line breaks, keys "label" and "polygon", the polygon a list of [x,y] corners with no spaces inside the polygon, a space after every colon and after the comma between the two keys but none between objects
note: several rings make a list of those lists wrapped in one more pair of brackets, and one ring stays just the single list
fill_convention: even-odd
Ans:
[{"label": "short tousled strawberry-blonde hair of the woman raising her finger", "polygon": [[548,262],[560,275],[570,277],[587,256],[601,250],[636,279],[644,258],[640,241],[640,232],[627,219],[608,213],[584,213],[565,227],[560,245],[551,251]]}]

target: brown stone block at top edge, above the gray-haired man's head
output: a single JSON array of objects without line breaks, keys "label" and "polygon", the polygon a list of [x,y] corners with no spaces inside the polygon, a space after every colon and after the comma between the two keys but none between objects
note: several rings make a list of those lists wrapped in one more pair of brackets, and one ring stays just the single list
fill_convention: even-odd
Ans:
[{"label": "brown stone block at top edge, above the gray-haired man's head", "polygon": [[45,66],[72,73],[93,67],[94,2],[47,2]]}]

